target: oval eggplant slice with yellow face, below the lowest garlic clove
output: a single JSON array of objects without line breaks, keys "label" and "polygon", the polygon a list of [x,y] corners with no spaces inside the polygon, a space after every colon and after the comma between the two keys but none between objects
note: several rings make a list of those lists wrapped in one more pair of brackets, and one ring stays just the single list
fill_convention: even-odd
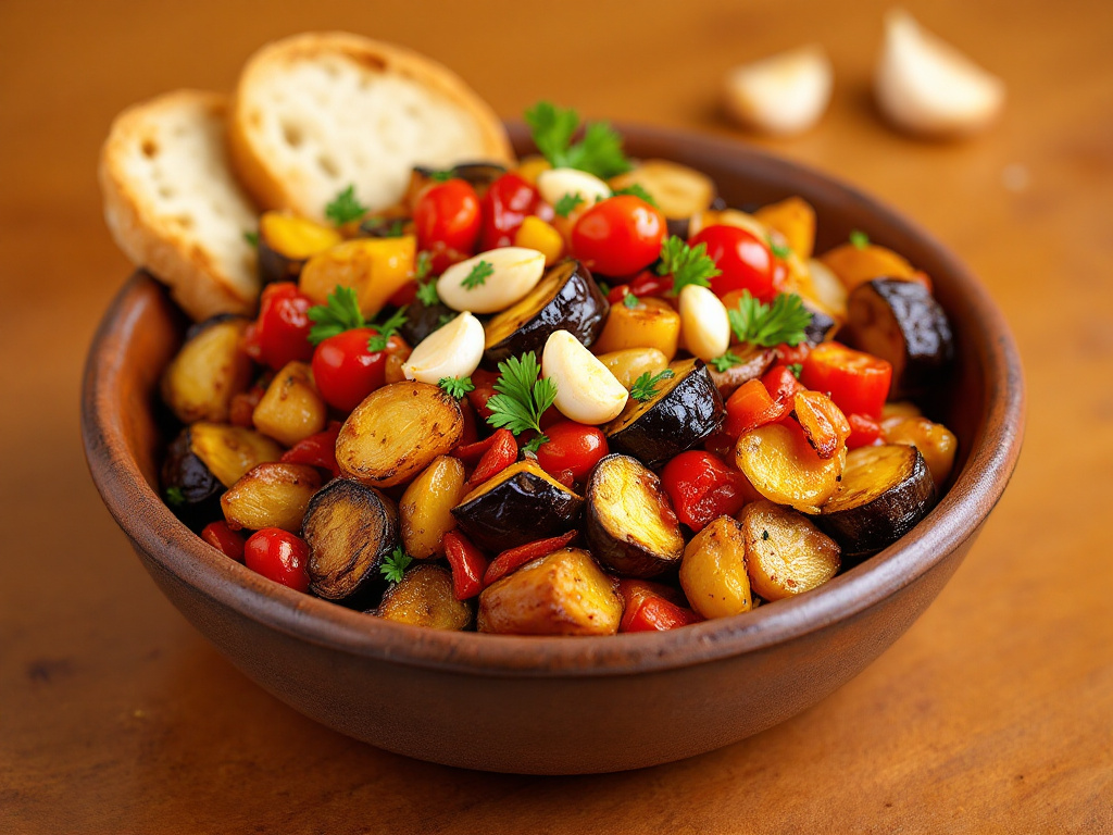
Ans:
[{"label": "oval eggplant slice with yellow face, below the lowest garlic clove", "polygon": [[588,480],[587,536],[604,566],[656,577],[679,564],[684,538],[661,480],[640,461],[612,454]]}]

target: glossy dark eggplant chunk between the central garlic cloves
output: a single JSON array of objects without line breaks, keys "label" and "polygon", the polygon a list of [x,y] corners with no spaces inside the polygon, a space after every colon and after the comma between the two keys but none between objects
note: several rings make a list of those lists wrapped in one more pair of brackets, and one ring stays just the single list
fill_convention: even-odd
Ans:
[{"label": "glossy dark eggplant chunk between the central garlic cloves", "polygon": [[590,347],[607,324],[608,311],[591,272],[578,261],[561,262],[525,298],[487,322],[483,356],[499,363],[528,351],[540,355],[555,331],[568,331]]}]

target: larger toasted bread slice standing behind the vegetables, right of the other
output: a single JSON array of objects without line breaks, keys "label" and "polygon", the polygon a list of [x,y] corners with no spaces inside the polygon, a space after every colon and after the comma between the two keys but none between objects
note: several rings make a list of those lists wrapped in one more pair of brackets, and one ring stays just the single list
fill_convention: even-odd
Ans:
[{"label": "larger toasted bread slice standing behind the vegetables, right of the other", "polygon": [[344,32],[256,52],[239,77],[229,138],[236,173],[262,207],[316,220],[349,185],[372,209],[396,203],[414,165],[513,160],[502,122],[456,75]]}]

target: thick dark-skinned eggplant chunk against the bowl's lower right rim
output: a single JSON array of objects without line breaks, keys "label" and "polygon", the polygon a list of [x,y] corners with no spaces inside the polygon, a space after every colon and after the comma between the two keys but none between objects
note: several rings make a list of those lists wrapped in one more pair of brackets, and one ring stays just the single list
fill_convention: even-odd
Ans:
[{"label": "thick dark-skinned eggplant chunk against the bowl's lower right rim", "polygon": [[816,518],[858,560],[896,542],[927,515],[935,484],[915,446],[860,446],[846,456],[843,482]]}]

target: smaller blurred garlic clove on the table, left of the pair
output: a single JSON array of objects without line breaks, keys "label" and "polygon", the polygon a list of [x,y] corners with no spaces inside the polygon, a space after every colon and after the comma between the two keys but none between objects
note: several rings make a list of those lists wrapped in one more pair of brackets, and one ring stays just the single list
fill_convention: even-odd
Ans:
[{"label": "smaller blurred garlic clove on the table, left of the pair", "polygon": [[727,112],[766,134],[802,134],[824,115],[834,73],[823,47],[800,47],[727,73]]}]

